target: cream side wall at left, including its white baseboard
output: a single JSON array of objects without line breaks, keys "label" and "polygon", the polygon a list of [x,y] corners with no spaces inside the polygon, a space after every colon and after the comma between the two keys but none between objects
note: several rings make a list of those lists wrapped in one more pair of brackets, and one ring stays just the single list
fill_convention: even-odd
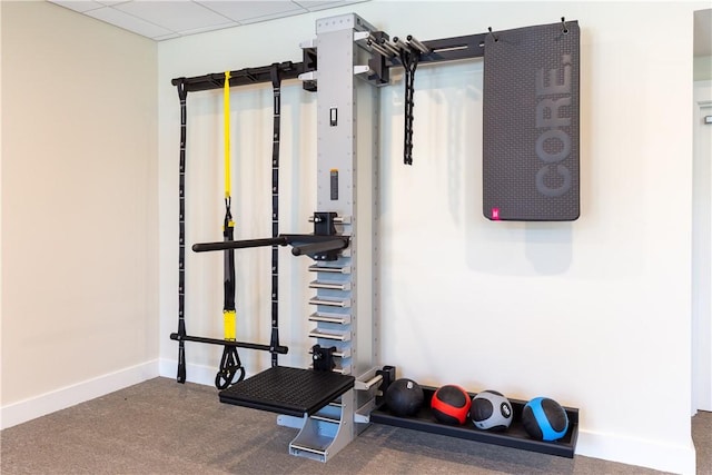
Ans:
[{"label": "cream side wall at left, including its white baseboard", "polygon": [[158,373],[157,47],[2,2],[2,426]]}]

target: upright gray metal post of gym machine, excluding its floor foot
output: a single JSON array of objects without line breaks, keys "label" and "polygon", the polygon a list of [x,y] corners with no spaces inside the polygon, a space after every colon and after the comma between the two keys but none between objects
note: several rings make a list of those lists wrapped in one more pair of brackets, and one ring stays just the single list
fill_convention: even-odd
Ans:
[{"label": "upright gray metal post of gym machine, excluding its floor foot", "polygon": [[[352,237],[350,247],[329,264],[348,273],[317,273],[317,281],[335,279],[342,288],[317,288],[317,311],[343,315],[348,324],[318,321],[317,334],[336,331],[343,354],[339,368],[358,377],[370,370],[376,358],[373,327],[375,315],[374,248],[377,199],[378,89],[355,75],[367,65],[369,53],[354,34],[375,31],[360,17],[349,13],[317,21],[317,210],[335,212],[343,224],[337,231]],[[339,229],[340,228],[340,229]],[[343,331],[346,331],[344,335]],[[322,346],[333,340],[318,338]]]}]

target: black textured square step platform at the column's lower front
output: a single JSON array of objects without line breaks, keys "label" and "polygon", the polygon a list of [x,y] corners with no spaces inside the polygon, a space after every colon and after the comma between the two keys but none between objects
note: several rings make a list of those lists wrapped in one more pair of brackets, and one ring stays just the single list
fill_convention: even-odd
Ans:
[{"label": "black textured square step platform at the column's lower front", "polygon": [[313,415],[354,387],[354,376],[275,366],[219,393],[220,403],[288,416]]}]

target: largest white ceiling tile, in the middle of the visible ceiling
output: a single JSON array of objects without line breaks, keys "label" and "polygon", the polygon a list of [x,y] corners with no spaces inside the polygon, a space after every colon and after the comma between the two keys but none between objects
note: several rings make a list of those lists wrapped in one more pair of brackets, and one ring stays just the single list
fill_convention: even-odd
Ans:
[{"label": "largest white ceiling tile, in the middle of the visible ceiling", "polygon": [[170,31],[224,24],[228,19],[190,1],[129,1],[113,7]]}]

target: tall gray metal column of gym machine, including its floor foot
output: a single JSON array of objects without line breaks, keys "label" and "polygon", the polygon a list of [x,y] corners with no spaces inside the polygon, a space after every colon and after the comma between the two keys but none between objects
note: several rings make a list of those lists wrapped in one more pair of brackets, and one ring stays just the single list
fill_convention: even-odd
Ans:
[{"label": "tall gray metal column of gym machine, including its floor foot", "polygon": [[[376,206],[378,196],[378,90],[359,75],[370,53],[359,46],[364,32],[375,31],[354,13],[317,20],[317,204],[315,211],[335,212],[337,234],[350,246],[337,260],[310,267],[316,295],[309,337],[322,347],[336,347],[335,370],[358,384],[305,418],[290,453],[323,462],[346,446],[360,429],[359,408],[373,405],[374,389],[363,382],[377,363]],[[360,34],[359,34],[360,33]],[[366,34],[367,36],[367,34]]]}]

